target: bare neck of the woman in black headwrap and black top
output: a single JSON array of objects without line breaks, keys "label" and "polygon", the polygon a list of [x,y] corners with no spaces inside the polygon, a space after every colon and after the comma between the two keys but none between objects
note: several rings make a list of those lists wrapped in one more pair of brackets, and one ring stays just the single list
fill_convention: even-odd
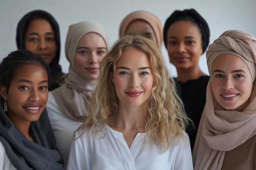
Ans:
[{"label": "bare neck of the woman in black headwrap and black top", "polygon": [[189,69],[180,69],[177,68],[177,81],[187,82],[189,80],[199,79],[205,75],[199,68],[199,66],[194,66]]}]

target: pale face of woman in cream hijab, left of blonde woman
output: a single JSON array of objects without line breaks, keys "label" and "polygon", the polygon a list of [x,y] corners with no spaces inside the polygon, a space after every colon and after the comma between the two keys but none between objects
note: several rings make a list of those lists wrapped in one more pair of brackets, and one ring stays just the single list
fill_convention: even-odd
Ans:
[{"label": "pale face of woman in cream hijab, left of blonde woman", "polygon": [[75,53],[75,70],[85,79],[97,79],[101,60],[107,53],[107,46],[101,35],[87,33],[80,39]]}]

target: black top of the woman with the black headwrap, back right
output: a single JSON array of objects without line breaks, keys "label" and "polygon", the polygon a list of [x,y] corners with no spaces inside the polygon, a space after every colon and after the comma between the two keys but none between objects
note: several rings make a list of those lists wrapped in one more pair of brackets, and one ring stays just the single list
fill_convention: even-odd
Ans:
[{"label": "black top of the woman with the black headwrap, back right", "polygon": [[[194,123],[194,128],[189,126],[186,132],[189,135],[191,150],[194,148],[195,137],[206,102],[206,88],[210,77],[202,76],[199,79],[189,80],[186,83],[178,82],[178,92],[183,101],[186,114]],[[175,78],[175,81],[176,78]]]}]

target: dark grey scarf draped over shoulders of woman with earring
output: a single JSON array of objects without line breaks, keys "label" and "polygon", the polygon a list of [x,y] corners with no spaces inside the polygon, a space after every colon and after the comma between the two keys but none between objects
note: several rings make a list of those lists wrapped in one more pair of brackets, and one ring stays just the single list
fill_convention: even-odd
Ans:
[{"label": "dark grey scarf draped over shoulders of woman with earring", "polygon": [[[18,170],[64,170],[63,160],[53,142],[55,137],[46,109],[41,117],[48,121],[30,124],[29,131],[34,139],[32,142],[13,125],[4,112],[3,102],[4,99],[0,97],[0,142],[13,166]],[[46,135],[51,135],[52,141]]]}]

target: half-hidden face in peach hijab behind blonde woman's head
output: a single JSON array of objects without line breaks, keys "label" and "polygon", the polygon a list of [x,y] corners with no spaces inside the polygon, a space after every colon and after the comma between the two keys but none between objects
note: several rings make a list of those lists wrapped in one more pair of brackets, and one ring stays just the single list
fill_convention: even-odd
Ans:
[{"label": "half-hidden face in peach hijab behind blonde woman's head", "polygon": [[141,34],[144,37],[155,42],[155,44],[157,44],[157,38],[154,33],[154,30],[152,29],[150,24],[148,24],[143,20],[132,21],[126,30],[126,33],[129,33],[129,32]]}]

